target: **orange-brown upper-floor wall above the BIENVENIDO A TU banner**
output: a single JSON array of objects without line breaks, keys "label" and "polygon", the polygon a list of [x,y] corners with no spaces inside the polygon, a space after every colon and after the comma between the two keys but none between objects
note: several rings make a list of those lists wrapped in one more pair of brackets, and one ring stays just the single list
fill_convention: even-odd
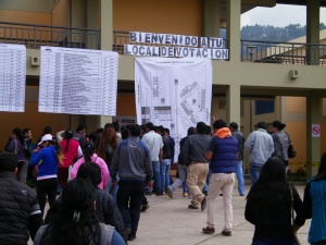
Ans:
[{"label": "orange-brown upper-floor wall above the BIENVENIDO A TU banner", "polygon": [[200,0],[113,0],[113,29],[200,36]]}]

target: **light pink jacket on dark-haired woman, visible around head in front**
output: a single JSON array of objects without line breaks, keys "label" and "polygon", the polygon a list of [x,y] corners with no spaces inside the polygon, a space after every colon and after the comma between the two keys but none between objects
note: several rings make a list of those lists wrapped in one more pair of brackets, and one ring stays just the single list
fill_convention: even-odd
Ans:
[{"label": "light pink jacket on dark-haired woman, visible around head in front", "polygon": [[[102,182],[98,185],[98,187],[101,189],[105,189],[106,183],[108,183],[108,180],[110,176],[108,166],[106,166],[105,161],[102,158],[98,157],[98,155],[96,155],[96,154],[93,154],[91,156],[91,161],[97,163],[101,168]],[[73,166],[73,169],[71,172],[72,180],[74,180],[76,177],[78,169],[84,162],[85,162],[85,158],[83,157],[78,161],[76,161],[76,163]]]}]

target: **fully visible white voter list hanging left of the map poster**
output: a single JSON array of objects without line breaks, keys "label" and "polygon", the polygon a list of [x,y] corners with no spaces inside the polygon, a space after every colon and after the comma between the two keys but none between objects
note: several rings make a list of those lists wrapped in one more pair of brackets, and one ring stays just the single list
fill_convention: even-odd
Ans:
[{"label": "fully visible white voter list hanging left of the map poster", "polygon": [[115,115],[116,52],[41,47],[39,112]]}]

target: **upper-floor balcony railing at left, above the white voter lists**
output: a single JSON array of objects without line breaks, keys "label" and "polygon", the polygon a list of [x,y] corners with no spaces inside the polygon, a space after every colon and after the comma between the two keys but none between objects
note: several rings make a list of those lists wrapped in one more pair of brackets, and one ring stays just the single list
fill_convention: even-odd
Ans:
[{"label": "upper-floor balcony railing at left, above the white voter lists", "polygon": [[0,22],[0,42],[25,45],[29,49],[40,46],[100,49],[100,29]]}]

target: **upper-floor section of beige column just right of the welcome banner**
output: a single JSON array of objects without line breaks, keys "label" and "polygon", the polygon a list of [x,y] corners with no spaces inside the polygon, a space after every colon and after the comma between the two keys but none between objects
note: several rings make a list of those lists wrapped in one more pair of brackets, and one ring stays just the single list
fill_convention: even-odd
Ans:
[{"label": "upper-floor section of beige column just right of the welcome banner", "polygon": [[241,0],[226,1],[226,37],[228,40],[229,60],[240,62],[240,15]]}]

